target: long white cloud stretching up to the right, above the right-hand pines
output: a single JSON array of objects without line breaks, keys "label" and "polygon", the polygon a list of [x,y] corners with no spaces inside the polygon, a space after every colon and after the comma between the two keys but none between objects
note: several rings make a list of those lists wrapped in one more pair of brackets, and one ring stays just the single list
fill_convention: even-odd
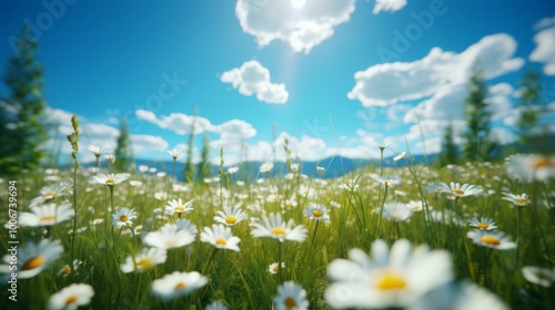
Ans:
[{"label": "long white cloud stretching up to the right, above the right-hand pines", "polygon": [[433,48],[421,60],[383,63],[354,74],[356,84],[347,97],[364,106],[386,106],[408,100],[420,100],[444,87],[466,83],[476,61],[484,78],[493,79],[519,69],[524,60],[513,58],[516,41],[508,34],[484,37],[457,54]]}]

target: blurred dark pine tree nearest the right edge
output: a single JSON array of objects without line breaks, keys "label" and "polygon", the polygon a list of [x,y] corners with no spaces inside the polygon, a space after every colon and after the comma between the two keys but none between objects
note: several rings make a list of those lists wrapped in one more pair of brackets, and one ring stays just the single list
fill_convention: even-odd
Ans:
[{"label": "blurred dark pine tree nearest the right edge", "polygon": [[518,131],[518,143],[524,145],[532,136],[537,124],[538,107],[542,102],[539,97],[539,75],[534,71],[528,71],[521,81],[521,114],[516,121],[516,128]]}]

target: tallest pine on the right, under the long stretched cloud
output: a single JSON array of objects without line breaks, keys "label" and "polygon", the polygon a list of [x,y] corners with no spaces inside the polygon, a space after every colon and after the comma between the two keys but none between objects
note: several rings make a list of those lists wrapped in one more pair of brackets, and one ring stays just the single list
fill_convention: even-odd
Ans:
[{"label": "tallest pine on the right, under the long stretched cloud", "polygon": [[484,82],[482,68],[475,65],[468,82],[468,97],[465,101],[467,125],[463,148],[465,161],[490,161],[495,155],[497,144],[491,134],[492,113],[487,111],[486,94],[487,86]]}]

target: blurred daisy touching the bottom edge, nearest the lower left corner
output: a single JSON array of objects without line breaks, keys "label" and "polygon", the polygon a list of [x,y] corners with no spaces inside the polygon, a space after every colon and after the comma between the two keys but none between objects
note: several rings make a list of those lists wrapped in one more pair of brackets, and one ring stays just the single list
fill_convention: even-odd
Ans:
[{"label": "blurred daisy touching the bottom edge, nearest the lower left corner", "polygon": [[94,290],[84,283],[73,283],[52,294],[48,301],[48,309],[74,310],[91,302]]}]

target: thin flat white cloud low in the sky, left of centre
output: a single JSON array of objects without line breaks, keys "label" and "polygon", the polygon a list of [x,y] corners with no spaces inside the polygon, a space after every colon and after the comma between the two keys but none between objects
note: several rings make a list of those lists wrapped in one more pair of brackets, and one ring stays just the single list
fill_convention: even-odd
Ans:
[{"label": "thin flat white cloud low in the sky, left of centre", "polygon": [[137,110],[135,115],[140,120],[155,124],[161,128],[173,131],[180,135],[189,134],[193,130],[193,124],[195,134],[202,134],[205,131],[213,130],[213,126],[208,118],[186,115],[183,113],[172,113],[169,116],[158,118],[158,116],[151,111]]}]

